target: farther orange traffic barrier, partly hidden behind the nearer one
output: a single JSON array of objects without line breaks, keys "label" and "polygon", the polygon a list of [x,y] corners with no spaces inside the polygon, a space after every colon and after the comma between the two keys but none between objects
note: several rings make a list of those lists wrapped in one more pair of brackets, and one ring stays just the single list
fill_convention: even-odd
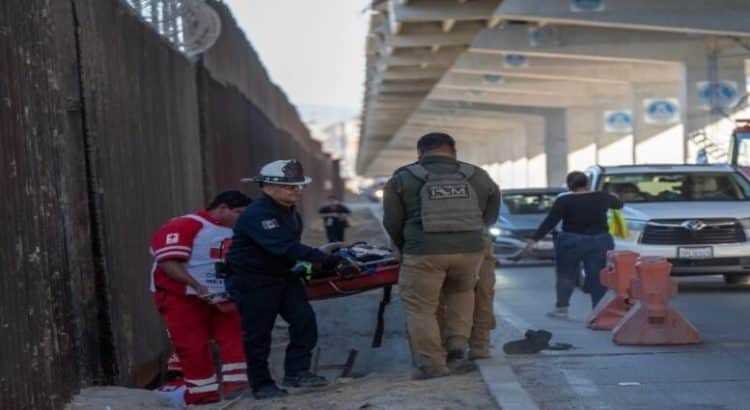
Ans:
[{"label": "farther orange traffic barrier, partly hidden behind the nearer one", "polygon": [[589,316],[588,326],[594,330],[612,330],[633,305],[630,281],[635,278],[635,252],[607,252],[607,266],[599,273],[602,285],[609,288]]}]

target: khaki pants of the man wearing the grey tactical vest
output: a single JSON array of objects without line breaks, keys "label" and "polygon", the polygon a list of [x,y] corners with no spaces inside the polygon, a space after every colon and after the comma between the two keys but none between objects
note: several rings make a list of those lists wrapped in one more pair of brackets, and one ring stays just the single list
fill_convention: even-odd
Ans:
[{"label": "khaki pants of the man wearing the grey tactical vest", "polygon": [[404,255],[399,274],[406,308],[409,342],[417,367],[446,368],[446,352],[438,325],[441,294],[445,329],[453,335],[449,349],[466,349],[474,315],[474,287],[483,252],[449,255]]}]

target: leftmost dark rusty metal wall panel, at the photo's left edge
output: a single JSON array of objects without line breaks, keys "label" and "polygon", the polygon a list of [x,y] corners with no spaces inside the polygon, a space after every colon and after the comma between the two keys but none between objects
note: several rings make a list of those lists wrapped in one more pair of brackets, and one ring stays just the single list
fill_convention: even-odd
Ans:
[{"label": "leftmost dark rusty metal wall panel, at the photo's left edge", "polygon": [[97,373],[72,16],[70,2],[0,3],[4,410],[60,408]]}]

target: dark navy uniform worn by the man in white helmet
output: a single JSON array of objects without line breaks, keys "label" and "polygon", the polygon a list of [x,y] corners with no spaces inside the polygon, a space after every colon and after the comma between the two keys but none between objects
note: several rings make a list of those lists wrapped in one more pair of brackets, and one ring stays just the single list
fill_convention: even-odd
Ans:
[{"label": "dark navy uniform worn by the man in white helmet", "polygon": [[289,323],[284,370],[294,377],[310,369],[318,334],[315,312],[302,279],[291,273],[296,261],[335,266],[340,258],[300,242],[302,218],[263,195],[234,226],[226,257],[227,290],[242,315],[247,373],[253,389],[273,383],[268,370],[271,331],[276,316]]}]

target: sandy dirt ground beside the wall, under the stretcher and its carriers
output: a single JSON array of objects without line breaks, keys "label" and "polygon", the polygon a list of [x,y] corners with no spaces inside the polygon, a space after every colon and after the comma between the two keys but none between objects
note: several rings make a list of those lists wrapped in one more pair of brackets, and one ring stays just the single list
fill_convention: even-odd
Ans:
[{"label": "sandy dirt ground beside the wall, under the stretcher and its carriers", "polygon": [[[373,217],[371,203],[351,204],[351,227],[347,241],[364,240],[385,245],[379,222]],[[305,242],[325,242],[320,221],[307,226]],[[316,352],[318,372],[333,383],[323,389],[290,391],[288,397],[258,402],[252,398],[225,401],[214,405],[191,406],[202,410],[298,410],[298,409],[497,409],[478,372],[428,381],[413,381],[411,355],[406,339],[403,308],[394,289],[393,301],[386,309],[383,345],[370,346],[377,308],[382,292],[374,290],[346,298],[313,302],[318,317],[319,343]],[[281,365],[286,345],[286,324],[277,323],[271,353],[272,373],[283,376]],[[340,369],[331,366],[346,361],[351,350],[357,359],[351,374],[340,378]],[[249,395],[248,395],[249,397]],[[155,393],[142,389],[97,387],[85,389],[67,410],[141,410],[170,409]]]}]

